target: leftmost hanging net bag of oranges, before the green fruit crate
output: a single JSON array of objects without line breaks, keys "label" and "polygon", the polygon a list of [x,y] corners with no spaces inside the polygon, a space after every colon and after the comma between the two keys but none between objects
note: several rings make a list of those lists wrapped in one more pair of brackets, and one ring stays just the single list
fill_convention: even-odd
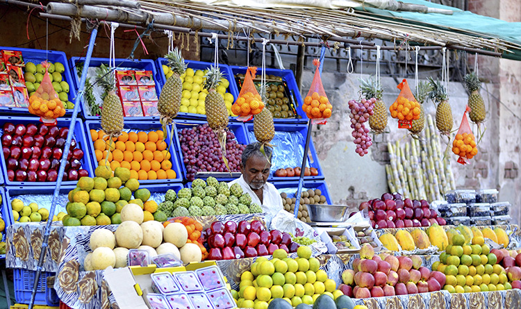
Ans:
[{"label": "leftmost hanging net bag of oranges, before the green fruit crate", "polygon": [[44,78],[38,90],[29,98],[28,109],[31,114],[40,116],[40,122],[46,126],[56,126],[56,118],[65,115],[65,108],[49,78],[49,63],[42,62],[42,66],[45,68]]}]

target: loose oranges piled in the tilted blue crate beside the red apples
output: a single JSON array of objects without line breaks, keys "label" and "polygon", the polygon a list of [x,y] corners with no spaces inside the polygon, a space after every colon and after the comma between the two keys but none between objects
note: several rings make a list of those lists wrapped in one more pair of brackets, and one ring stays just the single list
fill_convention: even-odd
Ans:
[{"label": "loose oranges piled in the tilted blue crate beside the red apples", "polygon": [[138,180],[176,178],[163,131],[122,132],[112,142],[105,135],[104,131],[90,130],[98,165],[108,165],[113,171],[125,167],[131,170],[131,178]]}]

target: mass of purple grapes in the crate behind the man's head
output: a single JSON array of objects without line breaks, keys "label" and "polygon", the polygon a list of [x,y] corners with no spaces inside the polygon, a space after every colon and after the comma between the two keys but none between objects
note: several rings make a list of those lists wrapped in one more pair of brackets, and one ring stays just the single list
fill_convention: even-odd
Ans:
[{"label": "mass of purple grapes in the crate behind the man's head", "polygon": [[[183,128],[179,132],[179,142],[188,181],[193,181],[197,172],[228,172],[219,141],[208,124]],[[245,145],[238,144],[233,132],[226,134],[226,159],[231,172],[240,172],[240,160],[245,148]]]}]

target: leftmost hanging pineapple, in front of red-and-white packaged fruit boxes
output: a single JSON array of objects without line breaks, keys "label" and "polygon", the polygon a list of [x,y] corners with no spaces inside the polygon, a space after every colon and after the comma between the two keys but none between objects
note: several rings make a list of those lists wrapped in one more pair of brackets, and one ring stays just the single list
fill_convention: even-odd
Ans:
[{"label": "leftmost hanging pineapple, in front of red-and-white packaged fruit boxes", "polygon": [[103,106],[101,107],[101,128],[110,137],[121,135],[123,130],[123,107],[116,95],[116,83],[113,72],[108,67],[101,65],[97,69],[99,85],[105,90]]}]

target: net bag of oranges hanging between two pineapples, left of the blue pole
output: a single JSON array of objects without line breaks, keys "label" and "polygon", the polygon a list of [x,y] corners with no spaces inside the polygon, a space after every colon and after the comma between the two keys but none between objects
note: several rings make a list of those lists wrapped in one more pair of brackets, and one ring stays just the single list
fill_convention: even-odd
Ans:
[{"label": "net bag of oranges hanging between two pineapples, left of the blue pole", "polygon": [[248,67],[245,74],[245,81],[242,83],[242,88],[240,89],[239,97],[235,100],[233,106],[231,106],[231,112],[235,115],[239,115],[237,119],[242,122],[247,122],[264,108],[261,95],[258,94],[257,88],[254,84],[256,72],[256,67]]}]

